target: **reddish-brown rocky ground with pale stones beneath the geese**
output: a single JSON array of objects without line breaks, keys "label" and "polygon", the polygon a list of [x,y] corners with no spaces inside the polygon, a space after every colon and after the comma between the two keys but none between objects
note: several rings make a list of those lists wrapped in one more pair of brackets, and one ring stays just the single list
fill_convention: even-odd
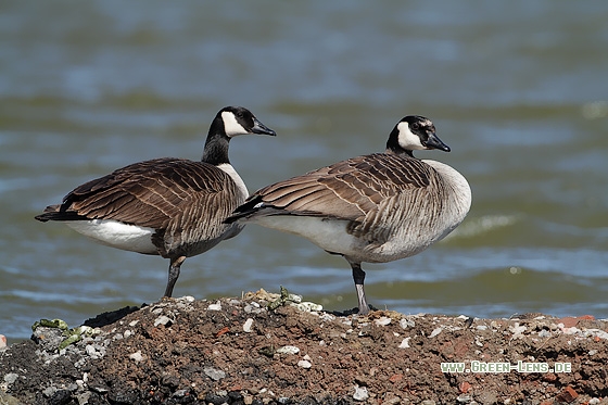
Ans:
[{"label": "reddish-brown rocky ground with pale stones beneath the geese", "polygon": [[74,329],[42,321],[0,350],[0,404],[608,404],[605,320],[358,316],[293,301],[258,291]]}]

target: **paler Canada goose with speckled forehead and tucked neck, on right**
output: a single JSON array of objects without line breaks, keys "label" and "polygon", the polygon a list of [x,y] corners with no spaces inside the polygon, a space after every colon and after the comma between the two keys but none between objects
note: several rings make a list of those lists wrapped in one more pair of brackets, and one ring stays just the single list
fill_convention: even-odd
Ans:
[{"label": "paler Canada goose with speckled forehead and tucked neck, on right", "polygon": [[267,186],[227,223],[255,223],[309,239],[351,264],[359,314],[367,314],[362,262],[385,263],[429,248],[469,212],[471,189],[458,172],[413,150],[449,148],[430,119],[409,115],[384,153],[349,159]]}]

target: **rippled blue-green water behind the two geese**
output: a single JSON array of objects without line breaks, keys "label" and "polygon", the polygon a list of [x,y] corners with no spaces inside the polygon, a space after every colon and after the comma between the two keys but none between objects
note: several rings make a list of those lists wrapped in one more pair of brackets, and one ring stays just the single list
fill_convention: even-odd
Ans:
[{"label": "rippled blue-green water behind the two geese", "polygon": [[[34,215],[81,182],[160,156],[199,159],[240,104],[278,132],[231,160],[251,190],[382,151],[431,117],[461,172],[465,223],[368,269],[378,307],[498,317],[608,316],[608,3],[4,1],[0,7],[0,333],[156,301],[168,261]],[[176,295],[279,286],[356,305],[345,261],[250,226],[189,258]]]}]

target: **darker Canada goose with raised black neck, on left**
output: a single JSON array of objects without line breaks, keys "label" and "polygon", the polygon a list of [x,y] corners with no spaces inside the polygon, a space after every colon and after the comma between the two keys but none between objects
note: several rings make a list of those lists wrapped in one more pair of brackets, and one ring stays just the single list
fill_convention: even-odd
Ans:
[{"label": "darker Canada goose with raised black neck, on left", "polygon": [[169,258],[165,296],[172,296],[186,257],[243,228],[224,219],[249,195],[228,160],[230,139],[245,134],[276,135],[249,110],[224,107],[211,124],[201,162],[134,163],[75,188],[36,219],[64,222],[100,243]]}]

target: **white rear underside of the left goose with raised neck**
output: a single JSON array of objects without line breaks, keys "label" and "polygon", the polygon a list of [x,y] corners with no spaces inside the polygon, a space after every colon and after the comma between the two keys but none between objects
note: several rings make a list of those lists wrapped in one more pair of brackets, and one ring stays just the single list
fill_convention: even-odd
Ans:
[{"label": "white rear underside of the left goose with raised neck", "polygon": [[75,231],[112,248],[147,254],[157,253],[156,246],[152,244],[152,228],[113,219],[68,220],[65,224]]}]

